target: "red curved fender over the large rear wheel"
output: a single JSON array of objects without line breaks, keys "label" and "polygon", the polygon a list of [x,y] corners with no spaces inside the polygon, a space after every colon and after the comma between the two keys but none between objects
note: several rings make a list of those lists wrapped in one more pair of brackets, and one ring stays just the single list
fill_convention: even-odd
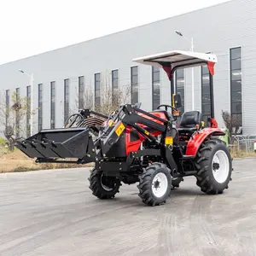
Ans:
[{"label": "red curved fender over the large rear wheel", "polygon": [[222,136],[225,135],[225,133],[218,128],[204,128],[201,131],[195,131],[195,133],[189,139],[186,155],[195,156],[201,146],[201,143],[203,143],[210,135]]}]

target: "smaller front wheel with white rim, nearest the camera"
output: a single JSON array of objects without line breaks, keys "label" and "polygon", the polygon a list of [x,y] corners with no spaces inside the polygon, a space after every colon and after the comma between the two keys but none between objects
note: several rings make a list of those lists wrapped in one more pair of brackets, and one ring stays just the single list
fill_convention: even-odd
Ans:
[{"label": "smaller front wheel with white rim, nearest the camera", "polygon": [[[152,185],[154,177],[159,173],[161,173],[160,175],[164,178],[162,185],[165,186],[165,189],[163,189],[164,194],[158,197],[155,195],[156,193],[154,192]],[[151,207],[160,206],[161,204],[166,203],[172,189],[172,176],[166,165],[162,163],[154,163],[153,165],[148,166],[139,177],[139,180],[139,184],[137,185],[137,188],[139,189],[138,195],[143,200],[143,203]],[[155,185],[160,184],[160,182],[154,183]]]}]

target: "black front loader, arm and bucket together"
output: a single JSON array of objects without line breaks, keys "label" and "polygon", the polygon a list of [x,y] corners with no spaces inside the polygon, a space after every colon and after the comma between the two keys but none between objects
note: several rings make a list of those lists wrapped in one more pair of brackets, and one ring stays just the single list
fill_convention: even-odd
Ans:
[{"label": "black front loader, arm and bucket together", "polygon": [[[109,150],[119,142],[126,127],[132,128],[145,140],[158,145],[159,154],[167,158],[170,167],[177,169],[172,157],[172,148],[166,147],[166,137],[177,137],[176,129],[172,128],[172,122],[131,104],[120,106],[112,118],[108,118],[101,126],[101,131],[96,138],[93,138],[90,127],[87,126],[44,130],[33,137],[19,141],[16,147],[29,157],[36,158],[36,162],[39,163],[98,163],[109,160],[107,155]],[[161,135],[160,141],[152,135],[155,131]],[[154,149],[150,150],[155,154]]]}]

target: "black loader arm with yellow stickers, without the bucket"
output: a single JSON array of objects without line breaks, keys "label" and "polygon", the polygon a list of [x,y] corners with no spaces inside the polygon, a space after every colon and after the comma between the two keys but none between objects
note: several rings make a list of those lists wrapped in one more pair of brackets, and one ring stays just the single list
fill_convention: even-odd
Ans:
[{"label": "black loader arm with yellow stickers, without the bucket", "polygon": [[[143,113],[144,116],[151,119],[139,115],[138,113]],[[142,126],[146,126],[146,129]],[[126,127],[132,127],[145,137],[145,140],[159,145],[161,148],[160,153],[165,155],[169,166],[172,170],[177,169],[175,160],[172,157],[172,148],[166,147],[166,137],[173,138],[177,136],[176,129],[172,128],[172,123],[166,119],[161,119],[152,113],[143,111],[142,109],[134,108],[130,104],[123,105],[119,108],[118,113],[113,116],[113,119],[108,121],[108,124],[102,131],[102,136],[98,137],[93,144],[90,142],[88,143],[88,153],[79,161],[81,163],[95,161],[97,165],[99,161],[107,160],[108,151],[114,144],[118,143],[119,137],[125,131]],[[160,142],[157,141],[157,138],[154,137],[150,131],[160,131],[160,134],[162,135]],[[155,154],[155,150],[151,150]]]}]

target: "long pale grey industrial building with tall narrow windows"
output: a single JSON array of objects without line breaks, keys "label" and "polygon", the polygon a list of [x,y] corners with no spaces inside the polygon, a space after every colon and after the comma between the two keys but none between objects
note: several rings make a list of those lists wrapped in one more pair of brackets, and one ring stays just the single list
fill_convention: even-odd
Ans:
[{"label": "long pale grey industrial building with tall narrow windows", "polygon": [[[141,108],[151,110],[160,103],[170,104],[170,82],[163,70],[137,66],[132,59],[173,49],[189,50],[190,38],[195,51],[218,56],[213,77],[218,124],[224,125],[222,110],[228,111],[241,118],[242,134],[255,135],[256,1],[252,0],[221,3],[3,64],[0,90],[7,104],[15,90],[30,97],[32,74],[32,108],[39,108],[33,116],[33,132],[61,127],[70,111],[78,110],[79,98],[83,100],[88,88],[91,100],[100,103],[102,84],[107,82],[112,90],[128,86],[129,102],[142,102]],[[194,109],[207,119],[211,111],[207,68],[194,68],[194,101],[191,68],[178,70],[175,79],[183,111],[191,110],[194,102]],[[29,113],[25,121],[29,122]]]}]

